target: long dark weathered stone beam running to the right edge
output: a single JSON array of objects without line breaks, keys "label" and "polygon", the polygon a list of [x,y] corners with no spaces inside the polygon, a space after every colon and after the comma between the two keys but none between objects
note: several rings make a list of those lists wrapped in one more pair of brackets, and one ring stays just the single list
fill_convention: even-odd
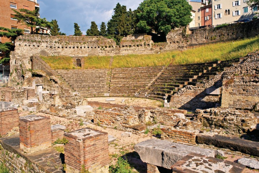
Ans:
[{"label": "long dark weathered stone beam running to the right edge", "polygon": [[196,142],[214,145],[220,148],[229,148],[234,151],[240,151],[241,153],[259,156],[259,142],[243,140],[237,137],[197,135]]}]

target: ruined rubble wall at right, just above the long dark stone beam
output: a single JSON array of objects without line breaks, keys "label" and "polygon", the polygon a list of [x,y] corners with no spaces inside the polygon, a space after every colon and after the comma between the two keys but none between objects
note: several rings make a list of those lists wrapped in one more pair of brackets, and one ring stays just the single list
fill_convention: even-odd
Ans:
[{"label": "ruined rubble wall at right, just above the long dark stone beam", "polygon": [[228,133],[246,133],[252,131],[257,124],[257,118],[248,110],[225,108],[197,109],[197,119],[204,127],[224,129]]}]

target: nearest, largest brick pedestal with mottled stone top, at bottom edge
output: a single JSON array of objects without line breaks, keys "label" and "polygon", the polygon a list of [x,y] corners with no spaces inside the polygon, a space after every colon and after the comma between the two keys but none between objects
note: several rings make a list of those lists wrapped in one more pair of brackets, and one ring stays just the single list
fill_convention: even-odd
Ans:
[{"label": "nearest, largest brick pedestal with mottled stone top, at bottom edge", "polygon": [[64,134],[66,172],[80,172],[82,166],[89,172],[108,173],[108,133],[85,128]]}]

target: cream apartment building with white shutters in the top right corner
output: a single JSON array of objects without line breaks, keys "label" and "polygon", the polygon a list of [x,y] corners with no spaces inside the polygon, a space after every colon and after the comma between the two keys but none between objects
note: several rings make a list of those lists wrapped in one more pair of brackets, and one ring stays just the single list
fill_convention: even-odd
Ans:
[{"label": "cream apartment building with white shutters in the top right corner", "polygon": [[258,7],[253,9],[246,3],[247,0],[212,0],[212,25],[233,23],[235,21],[252,20],[252,13],[258,12]]}]

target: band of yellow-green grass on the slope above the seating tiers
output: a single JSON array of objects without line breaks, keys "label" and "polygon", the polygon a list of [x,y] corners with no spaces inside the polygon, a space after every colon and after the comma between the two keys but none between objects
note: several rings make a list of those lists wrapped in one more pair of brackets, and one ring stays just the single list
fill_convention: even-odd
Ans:
[{"label": "band of yellow-green grass on the slope above the seating tiers", "polygon": [[[259,36],[231,42],[207,44],[188,50],[175,50],[160,54],[129,54],[113,57],[110,68],[148,67],[172,64],[203,63],[235,59],[259,49]],[[73,65],[72,57],[42,57],[53,69],[78,69]],[[109,68],[110,56],[85,57],[84,69]]]}]

